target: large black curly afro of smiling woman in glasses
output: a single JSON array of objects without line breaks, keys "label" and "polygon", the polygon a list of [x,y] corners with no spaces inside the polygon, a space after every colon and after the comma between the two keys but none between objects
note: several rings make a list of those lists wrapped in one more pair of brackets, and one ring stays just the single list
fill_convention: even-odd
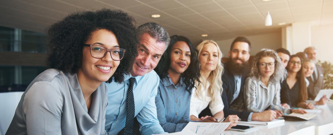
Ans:
[{"label": "large black curly afro of smiling woman in glasses", "polygon": [[126,49],[124,58],[107,82],[121,83],[129,74],[137,56],[136,22],[121,10],[101,9],[81,11],[68,15],[47,31],[49,47],[48,66],[67,73],[77,73],[82,65],[83,44],[100,29],[113,32],[120,48]]}]

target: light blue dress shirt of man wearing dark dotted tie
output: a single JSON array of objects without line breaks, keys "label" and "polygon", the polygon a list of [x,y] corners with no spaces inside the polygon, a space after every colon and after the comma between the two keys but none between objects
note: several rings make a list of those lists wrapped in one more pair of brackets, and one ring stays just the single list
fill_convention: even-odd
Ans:
[{"label": "light blue dress shirt of man wearing dark dotted tie", "polygon": [[[126,75],[123,83],[107,83],[108,106],[106,111],[105,130],[109,135],[116,135],[125,127],[127,109],[127,89],[132,75]],[[152,70],[144,76],[136,76],[133,86],[135,114],[143,135],[161,134],[164,132],[157,119],[155,97],[160,78]]]}]

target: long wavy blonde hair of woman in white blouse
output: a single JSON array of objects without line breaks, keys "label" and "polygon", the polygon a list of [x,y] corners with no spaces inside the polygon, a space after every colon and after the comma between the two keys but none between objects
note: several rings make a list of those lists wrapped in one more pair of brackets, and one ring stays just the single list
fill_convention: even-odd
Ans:
[{"label": "long wavy blonde hair of woman in white blouse", "polygon": [[[209,87],[208,87],[208,92],[210,96],[212,97],[212,100],[215,100],[215,95],[217,94],[218,91],[220,91],[220,94],[222,93],[222,73],[223,73],[223,64],[221,62],[221,59],[223,57],[223,54],[218,47],[217,43],[212,41],[212,40],[205,40],[202,41],[197,47],[196,50],[198,51],[198,58],[200,56],[201,50],[205,44],[212,43],[216,46],[217,48],[217,53],[218,53],[218,63],[217,67],[209,73],[209,76],[207,78],[207,81],[209,82]],[[200,75],[200,81],[202,82],[202,76]],[[204,88],[203,83],[198,83],[196,82],[196,91],[195,91],[195,96],[200,97],[199,95],[203,92],[202,88]]]}]

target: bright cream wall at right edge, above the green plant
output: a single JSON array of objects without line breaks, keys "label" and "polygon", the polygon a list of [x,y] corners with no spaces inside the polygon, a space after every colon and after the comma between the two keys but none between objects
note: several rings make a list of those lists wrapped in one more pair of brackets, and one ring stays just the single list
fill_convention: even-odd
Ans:
[{"label": "bright cream wall at right edge, above the green plant", "polygon": [[311,27],[311,45],[317,49],[317,59],[333,63],[333,24]]}]

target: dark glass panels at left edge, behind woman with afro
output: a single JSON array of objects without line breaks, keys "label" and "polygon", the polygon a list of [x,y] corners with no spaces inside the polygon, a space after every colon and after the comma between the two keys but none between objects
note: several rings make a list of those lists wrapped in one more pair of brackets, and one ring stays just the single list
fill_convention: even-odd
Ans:
[{"label": "dark glass panels at left edge, behind woman with afro", "polygon": [[[45,35],[0,26],[1,52],[46,53]],[[13,66],[0,63],[0,92],[24,91],[30,82],[45,69],[47,67]]]}]

